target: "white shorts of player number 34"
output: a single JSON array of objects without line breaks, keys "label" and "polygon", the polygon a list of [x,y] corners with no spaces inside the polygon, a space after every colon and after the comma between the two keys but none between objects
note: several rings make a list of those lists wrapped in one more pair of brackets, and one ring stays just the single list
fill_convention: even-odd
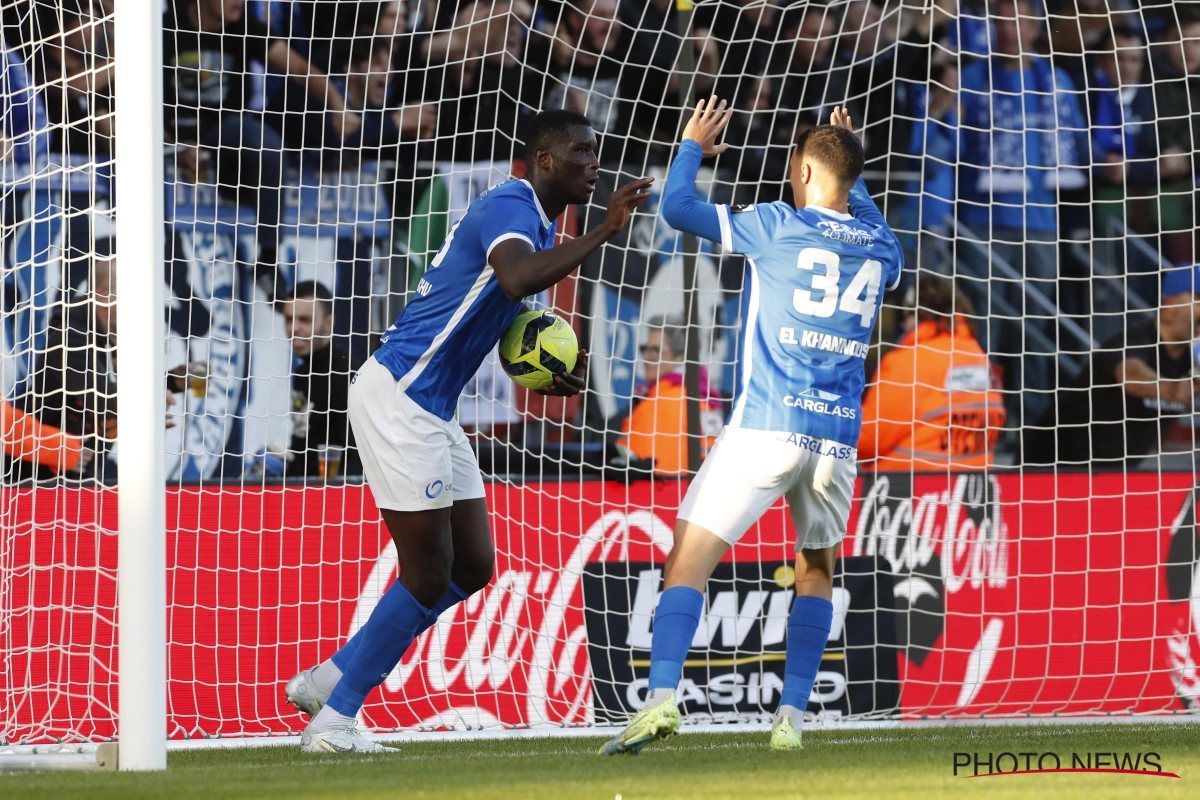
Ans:
[{"label": "white shorts of player number 34", "polygon": [[688,487],[679,518],[733,546],[786,497],[796,549],[833,547],[846,536],[857,455],[803,433],[725,428]]}]

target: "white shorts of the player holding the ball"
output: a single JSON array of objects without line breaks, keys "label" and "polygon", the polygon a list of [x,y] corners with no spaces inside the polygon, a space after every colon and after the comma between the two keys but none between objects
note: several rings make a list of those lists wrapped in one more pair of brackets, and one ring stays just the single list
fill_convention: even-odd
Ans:
[{"label": "white shorts of the player holding the ball", "polygon": [[350,381],[349,417],[377,507],[427,511],[484,497],[462,427],[413,402],[374,359]]}]

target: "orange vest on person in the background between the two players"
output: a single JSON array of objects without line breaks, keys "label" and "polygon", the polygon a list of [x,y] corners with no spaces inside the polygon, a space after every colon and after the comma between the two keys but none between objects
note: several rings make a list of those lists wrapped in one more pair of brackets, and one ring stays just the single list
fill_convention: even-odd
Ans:
[{"label": "orange vest on person in the background between the two players", "polygon": [[[700,404],[700,422],[704,437],[701,452],[708,455],[720,433],[721,404],[715,399]],[[660,380],[646,399],[634,407],[622,428],[623,441],[638,458],[653,458],[659,475],[683,475],[688,471],[688,401],[679,383]]]}]

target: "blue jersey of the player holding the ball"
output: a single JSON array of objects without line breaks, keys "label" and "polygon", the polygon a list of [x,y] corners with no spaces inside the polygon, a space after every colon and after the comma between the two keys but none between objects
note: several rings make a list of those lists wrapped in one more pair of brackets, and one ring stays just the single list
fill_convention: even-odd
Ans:
[{"label": "blue jersey of the player holding the ball", "polygon": [[509,239],[535,251],[554,243],[554,222],[528,181],[505,181],[470,204],[376,350],[400,387],[443,420],[454,419],[462,387],[521,311],[487,264]]}]

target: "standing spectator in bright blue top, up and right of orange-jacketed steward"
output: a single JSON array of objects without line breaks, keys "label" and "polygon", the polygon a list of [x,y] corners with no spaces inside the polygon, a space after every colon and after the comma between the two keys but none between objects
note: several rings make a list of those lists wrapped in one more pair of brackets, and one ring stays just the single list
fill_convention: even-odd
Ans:
[{"label": "standing spectator in bright blue top, up and right of orange-jacketed steward", "polygon": [[[1060,191],[1086,186],[1087,122],[1070,78],[1036,55],[1042,20],[1032,0],[997,0],[991,10],[996,49],[990,60],[964,68],[959,128],[959,219],[978,246],[961,247],[977,281],[976,296],[989,315],[996,297],[1009,307],[1004,325],[990,331],[991,350],[1013,354],[1006,368],[1014,398],[1009,416],[1036,417],[1052,386],[1057,323],[1032,301],[1057,301]],[[1016,277],[998,277],[1003,259]],[[984,305],[988,303],[988,305]],[[1030,335],[1033,331],[1033,335]]]}]

